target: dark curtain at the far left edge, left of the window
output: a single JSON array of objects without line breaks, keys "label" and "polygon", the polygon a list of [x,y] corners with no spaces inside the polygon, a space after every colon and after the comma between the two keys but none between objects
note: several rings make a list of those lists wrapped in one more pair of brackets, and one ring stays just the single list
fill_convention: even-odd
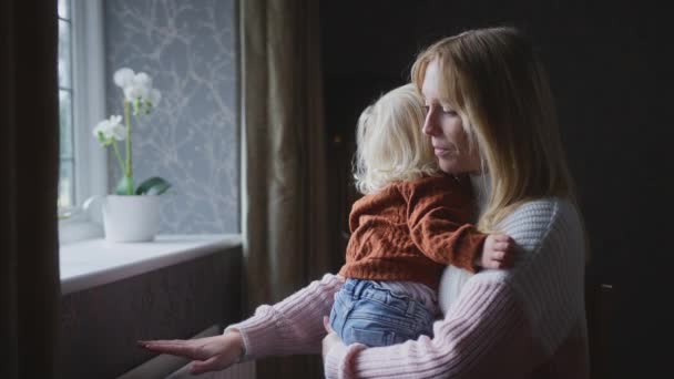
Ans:
[{"label": "dark curtain at the far left edge, left of the window", "polygon": [[54,378],[60,298],[57,1],[0,1],[1,378]]}]

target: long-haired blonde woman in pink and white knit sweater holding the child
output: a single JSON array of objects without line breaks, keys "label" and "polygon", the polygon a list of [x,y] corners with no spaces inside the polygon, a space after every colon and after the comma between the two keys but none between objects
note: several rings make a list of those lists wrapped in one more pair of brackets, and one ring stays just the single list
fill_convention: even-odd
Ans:
[{"label": "long-haired blonde woman in pink and white knit sweater holding the child", "polygon": [[[365,348],[329,334],[326,376],[586,378],[583,227],[552,94],[531,43],[509,28],[450,37],[418,57],[412,81],[428,109],[423,132],[440,167],[476,174],[478,227],[510,235],[517,262],[472,276],[433,325],[432,339]],[[194,372],[241,358],[316,354],[326,334],[321,318],[343,283],[326,275],[223,336],[142,344],[200,360]]]}]

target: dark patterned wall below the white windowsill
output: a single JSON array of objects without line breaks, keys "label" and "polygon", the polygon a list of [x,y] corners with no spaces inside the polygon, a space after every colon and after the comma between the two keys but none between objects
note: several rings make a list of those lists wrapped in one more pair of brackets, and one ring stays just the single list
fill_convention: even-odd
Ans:
[{"label": "dark patterned wall below the white windowsill", "polygon": [[156,355],[143,339],[191,338],[242,317],[242,249],[68,294],[61,299],[60,378],[116,378]]}]

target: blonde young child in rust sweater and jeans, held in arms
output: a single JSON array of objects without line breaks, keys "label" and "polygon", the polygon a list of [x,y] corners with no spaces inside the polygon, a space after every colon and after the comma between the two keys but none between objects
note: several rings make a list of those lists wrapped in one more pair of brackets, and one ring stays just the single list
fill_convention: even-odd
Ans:
[{"label": "blonde young child in rust sweater and jeans, held in arms", "polygon": [[432,336],[447,265],[474,272],[510,260],[508,236],[470,225],[477,209],[467,175],[438,167],[422,134],[423,102],[395,89],[358,120],[351,236],[329,325],[346,345],[388,346]]}]

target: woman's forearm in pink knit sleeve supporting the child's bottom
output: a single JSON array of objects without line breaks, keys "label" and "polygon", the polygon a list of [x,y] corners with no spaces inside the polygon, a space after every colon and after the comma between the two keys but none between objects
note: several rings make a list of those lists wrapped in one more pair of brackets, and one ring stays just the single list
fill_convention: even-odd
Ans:
[{"label": "woman's forearm in pink knit sleeve supporting the child's bottom", "polygon": [[366,349],[337,344],[327,378],[517,378],[537,363],[530,327],[503,274],[478,274],[433,338]]}]

